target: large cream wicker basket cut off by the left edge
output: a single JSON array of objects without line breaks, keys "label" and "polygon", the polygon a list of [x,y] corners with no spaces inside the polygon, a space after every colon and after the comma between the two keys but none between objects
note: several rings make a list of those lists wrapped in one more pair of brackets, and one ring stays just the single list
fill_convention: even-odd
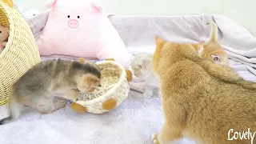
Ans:
[{"label": "large cream wicker basket cut off by the left edge", "polygon": [[30,26],[18,10],[0,2],[0,23],[10,28],[8,42],[0,54],[0,106],[2,106],[8,100],[10,87],[27,70],[40,62],[40,55]]}]

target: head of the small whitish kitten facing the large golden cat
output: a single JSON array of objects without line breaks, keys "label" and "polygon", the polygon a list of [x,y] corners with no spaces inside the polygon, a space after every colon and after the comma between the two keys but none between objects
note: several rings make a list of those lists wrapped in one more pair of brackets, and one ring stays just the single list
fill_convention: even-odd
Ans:
[{"label": "head of the small whitish kitten facing the large golden cat", "polygon": [[146,79],[150,76],[151,54],[136,54],[131,62],[131,68],[134,70],[134,75],[138,78]]}]

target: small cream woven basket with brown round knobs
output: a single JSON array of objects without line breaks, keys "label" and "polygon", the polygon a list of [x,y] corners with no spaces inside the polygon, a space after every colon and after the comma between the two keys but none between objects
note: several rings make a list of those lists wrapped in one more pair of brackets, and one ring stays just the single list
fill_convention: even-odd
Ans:
[{"label": "small cream woven basket with brown round knobs", "polygon": [[91,94],[83,94],[85,100],[76,103],[86,107],[89,113],[102,114],[110,110],[104,107],[109,102],[114,102],[114,107],[119,106],[127,98],[130,86],[126,70],[118,62],[99,61],[96,64],[102,74],[101,87]]}]

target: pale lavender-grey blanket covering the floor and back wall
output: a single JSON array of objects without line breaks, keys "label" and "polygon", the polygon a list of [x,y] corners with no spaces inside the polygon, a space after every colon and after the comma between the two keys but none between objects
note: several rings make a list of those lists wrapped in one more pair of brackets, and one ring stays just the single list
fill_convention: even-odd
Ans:
[{"label": "pale lavender-grey blanket covering the floor and back wall", "polygon": [[[219,39],[230,55],[230,67],[246,80],[256,82],[254,57],[256,39],[238,23],[222,15],[181,17],[118,17],[110,21],[118,30],[130,53],[154,51],[155,34],[175,42],[199,42],[208,38],[214,21],[219,26]],[[35,21],[36,22],[36,21]],[[39,30],[40,31],[40,30]],[[52,56],[42,58],[73,57]],[[130,82],[129,97],[106,114],[76,114],[66,105],[52,114],[39,114],[26,108],[15,122],[0,126],[2,144],[150,144],[151,134],[163,123],[161,98],[143,98],[145,83]],[[137,91],[135,91],[137,90]],[[0,118],[6,117],[6,106],[0,107]],[[177,143],[194,143],[182,139]]]}]

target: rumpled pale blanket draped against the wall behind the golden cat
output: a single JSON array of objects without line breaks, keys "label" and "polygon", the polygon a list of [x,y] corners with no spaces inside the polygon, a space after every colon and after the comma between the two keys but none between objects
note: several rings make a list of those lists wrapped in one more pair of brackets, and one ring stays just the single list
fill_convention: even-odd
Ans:
[{"label": "rumpled pale blanket draped against the wall behind the golden cat", "polygon": [[[230,67],[246,80],[256,82],[256,38],[230,18],[217,14],[194,16],[113,16],[110,21],[118,30],[131,53],[153,53],[155,35],[173,42],[196,43],[207,40],[210,26],[218,25],[218,40],[230,57]],[[145,83],[138,79],[131,88],[143,92]]]}]

